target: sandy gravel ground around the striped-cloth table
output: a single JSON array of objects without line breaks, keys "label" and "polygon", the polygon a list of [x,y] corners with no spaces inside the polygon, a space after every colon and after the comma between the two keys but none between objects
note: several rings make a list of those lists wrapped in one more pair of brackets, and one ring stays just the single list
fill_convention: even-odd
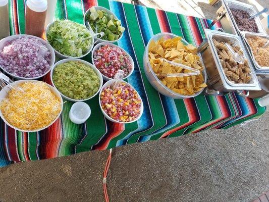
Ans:
[{"label": "sandy gravel ground around the striped-cloth table", "polygon": [[[156,6],[151,2],[142,1]],[[180,10],[186,2],[202,1],[177,2]],[[218,9],[198,6],[207,18]],[[266,111],[245,126],[113,149],[107,179],[111,201],[252,201],[269,189],[268,120]],[[103,201],[108,154],[91,151],[0,168],[0,201]]]}]

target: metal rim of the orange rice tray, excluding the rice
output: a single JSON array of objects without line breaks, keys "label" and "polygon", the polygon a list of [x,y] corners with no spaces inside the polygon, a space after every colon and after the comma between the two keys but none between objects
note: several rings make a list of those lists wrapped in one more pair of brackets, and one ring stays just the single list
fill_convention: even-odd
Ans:
[{"label": "metal rim of the orange rice tray, excluding the rice", "polygon": [[267,70],[269,72],[269,66],[268,67],[262,67],[257,63],[257,61],[256,61],[256,59],[255,59],[255,57],[253,55],[253,51],[251,49],[251,46],[249,45],[249,43],[247,41],[247,37],[250,37],[250,36],[260,36],[262,38],[266,38],[267,40],[269,40],[269,35],[253,33],[253,32],[247,32],[247,31],[241,32],[241,35],[242,35],[243,39],[245,40],[246,47],[247,47],[246,49],[247,49],[249,55],[252,58],[252,61],[253,61],[253,64],[254,64],[255,68],[258,69],[258,70]]}]

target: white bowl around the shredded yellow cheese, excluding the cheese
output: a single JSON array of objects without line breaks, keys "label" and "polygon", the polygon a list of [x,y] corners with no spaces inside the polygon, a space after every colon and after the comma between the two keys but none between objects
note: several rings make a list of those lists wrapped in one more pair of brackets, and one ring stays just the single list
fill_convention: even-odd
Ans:
[{"label": "white bowl around the shredded yellow cheese, excluding the cheese", "polygon": [[[25,82],[41,82],[41,81],[36,81],[36,80],[19,80],[19,81],[15,81],[13,83],[13,85],[18,85],[18,84],[21,84],[21,83],[25,83]],[[61,94],[56,90],[56,88],[52,87],[51,85],[47,84],[46,85],[50,88],[50,90],[55,93],[61,100],[61,111],[59,113],[59,115],[55,118],[55,120],[53,120],[49,125],[43,127],[43,128],[40,128],[40,129],[37,129],[37,130],[22,130],[22,129],[19,129],[13,125],[11,125],[6,119],[5,117],[3,116],[2,114],[2,111],[0,110],[0,117],[4,120],[4,122],[9,125],[10,127],[14,128],[15,130],[19,130],[19,131],[22,131],[22,132],[37,132],[37,131],[40,131],[40,130],[44,130],[46,128],[48,128],[49,126],[51,126],[54,122],[56,122],[56,120],[60,117],[62,111],[63,111],[63,99],[61,97]],[[8,93],[11,89],[8,88],[7,86],[5,86],[1,91],[0,91],[0,100],[1,99],[4,99],[8,96]]]}]

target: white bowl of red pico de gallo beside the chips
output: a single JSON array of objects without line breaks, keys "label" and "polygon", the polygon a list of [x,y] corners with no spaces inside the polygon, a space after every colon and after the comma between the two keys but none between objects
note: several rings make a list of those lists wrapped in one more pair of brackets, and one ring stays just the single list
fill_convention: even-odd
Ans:
[{"label": "white bowl of red pico de gallo beside the chips", "polygon": [[118,70],[123,70],[123,79],[134,71],[132,57],[121,47],[113,43],[98,43],[92,49],[92,64],[101,72],[103,80],[114,79]]}]

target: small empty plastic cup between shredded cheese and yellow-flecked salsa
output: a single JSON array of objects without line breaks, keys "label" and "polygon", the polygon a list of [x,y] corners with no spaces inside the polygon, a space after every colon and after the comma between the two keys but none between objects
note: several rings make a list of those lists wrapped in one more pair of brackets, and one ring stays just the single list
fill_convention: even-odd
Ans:
[{"label": "small empty plastic cup between shredded cheese and yellow-flecked salsa", "polygon": [[75,124],[82,124],[91,115],[90,107],[83,102],[74,103],[69,111],[69,118]]}]

